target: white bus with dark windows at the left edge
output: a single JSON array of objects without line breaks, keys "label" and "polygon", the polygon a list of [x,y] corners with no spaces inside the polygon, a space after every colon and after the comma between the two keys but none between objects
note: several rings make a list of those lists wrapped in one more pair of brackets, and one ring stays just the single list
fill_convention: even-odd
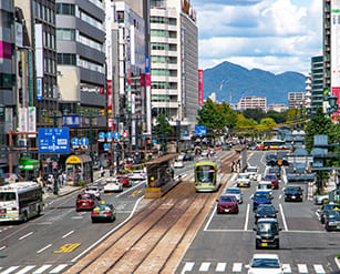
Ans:
[{"label": "white bus with dark windows at the left edge", "polygon": [[27,222],[43,211],[43,191],[35,182],[0,186],[0,222]]}]

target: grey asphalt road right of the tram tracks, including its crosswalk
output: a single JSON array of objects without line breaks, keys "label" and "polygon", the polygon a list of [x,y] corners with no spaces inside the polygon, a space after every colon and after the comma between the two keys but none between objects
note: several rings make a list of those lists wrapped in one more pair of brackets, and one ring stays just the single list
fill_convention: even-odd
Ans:
[{"label": "grey asphalt road right of the tram tracks, including its crosswalk", "polygon": [[[265,171],[265,152],[255,152],[249,159],[249,165]],[[227,186],[234,184],[230,180]],[[311,190],[306,183],[302,203],[284,201],[282,187],[274,190],[272,204],[278,213],[280,233],[280,250],[256,250],[255,217],[250,196],[256,184],[243,189],[244,203],[239,214],[216,214],[212,209],[205,225],[200,229],[192,246],[183,257],[176,273],[247,273],[245,265],[254,253],[279,254],[285,273],[339,273],[334,257],[339,253],[339,232],[326,232],[316,215],[318,206],[313,205]],[[224,190],[221,190],[224,192]]]}]

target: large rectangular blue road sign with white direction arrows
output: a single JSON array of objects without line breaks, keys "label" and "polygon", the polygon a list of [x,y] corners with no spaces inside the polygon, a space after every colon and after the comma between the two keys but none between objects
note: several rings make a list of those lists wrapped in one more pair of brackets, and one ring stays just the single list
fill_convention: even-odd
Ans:
[{"label": "large rectangular blue road sign with white direction arrows", "polygon": [[69,129],[41,128],[38,129],[40,154],[69,154]]}]

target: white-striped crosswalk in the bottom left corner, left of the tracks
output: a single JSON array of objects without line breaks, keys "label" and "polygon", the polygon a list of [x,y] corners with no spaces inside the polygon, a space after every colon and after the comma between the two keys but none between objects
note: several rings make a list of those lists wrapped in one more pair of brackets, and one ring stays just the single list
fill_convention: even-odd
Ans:
[{"label": "white-striped crosswalk in the bottom left corner, left of the tracks", "polygon": [[69,264],[0,266],[0,274],[58,274],[62,273],[68,266]]}]

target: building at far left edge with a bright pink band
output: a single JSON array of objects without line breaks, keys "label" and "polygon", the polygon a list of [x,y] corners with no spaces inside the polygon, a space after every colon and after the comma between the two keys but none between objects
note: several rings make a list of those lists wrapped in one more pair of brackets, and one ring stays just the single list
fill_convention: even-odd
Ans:
[{"label": "building at far left edge with a bright pink band", "polygon": [[16,130],[16,53],[14,53],[14,4],[11,0],[0,0],[0,184],[8,172],[6,150],[7,133]]}]

